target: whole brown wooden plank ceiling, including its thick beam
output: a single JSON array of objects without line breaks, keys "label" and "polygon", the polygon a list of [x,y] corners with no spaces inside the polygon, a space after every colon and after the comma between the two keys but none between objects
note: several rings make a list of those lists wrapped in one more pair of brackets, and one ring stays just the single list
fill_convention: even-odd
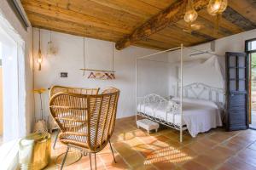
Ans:
[{"label": "whole brown wooden plank ceiling, including its thick beam", "polygon": [[194,24],[201,28],[189,33],[183,31],[186,0],[21,0],[32,26],[117,42],[119,49],[191,46],[256,28],[254,0],[229,0],[218,34],[208,0],[194,2],[199,13]]}]

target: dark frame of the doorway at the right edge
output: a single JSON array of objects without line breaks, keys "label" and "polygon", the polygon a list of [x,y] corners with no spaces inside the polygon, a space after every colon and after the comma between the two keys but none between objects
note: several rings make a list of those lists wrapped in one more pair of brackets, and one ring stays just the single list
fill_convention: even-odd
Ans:
[{"label": "dark frame of the doorway at the right edge", "polygon": [[251,54],[256,53],[256,49],[254,50],[249,50],[248,48],[248,43],[249,42],[254,42],[256,41],[256,37],[252,39],[248,39],[245,41],[245,53],[247,54],[247,66],[248,66],[248,81],[247,81],[247,90],[248,90],[248,95],[247,95],[247,108],[248,108],[248,113],[247,113],[247,127],[249,128],[249,125],[252,123],[252,68],[251,68],[251,61],[252,61],[252,56]]}]

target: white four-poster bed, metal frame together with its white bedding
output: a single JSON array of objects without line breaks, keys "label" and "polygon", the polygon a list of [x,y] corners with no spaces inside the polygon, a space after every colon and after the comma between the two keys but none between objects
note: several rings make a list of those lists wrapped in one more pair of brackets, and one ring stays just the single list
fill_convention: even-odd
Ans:
[{"label": "white four-poster bed, metal frame together with its white bedding", "polygon": [[[193,82],[183,86],[183,45],[155,54],[180,50],[179,78],[176,94],[173,99],[166,99],[159,94],[137,96],[137,62],[136,62],[136,120],[143,116],[154,122],[179,130],[180,142],[183,131],[189,130],[192,137],[214,127],[222,126],[221,112],[224,105],[224,88],[214,88],[202,82]],[[198,51],[198,50],[195,50]],[[146,60],[155,54],[140,58]],[[214,54],[213,54],[214,55]],[[153,59],[148,59],[153,61]],[[157,61],[159,62],[159,61]]]}]

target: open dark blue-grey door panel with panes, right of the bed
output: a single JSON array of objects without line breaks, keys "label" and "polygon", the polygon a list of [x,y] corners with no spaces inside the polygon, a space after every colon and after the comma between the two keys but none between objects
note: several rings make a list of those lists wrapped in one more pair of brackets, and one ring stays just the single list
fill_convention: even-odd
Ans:
[{"label": "open dark blue-grey door panel with panes, right of the bed", "polygon": [[226,53],[227,130],[247,129],[247,54]]}]

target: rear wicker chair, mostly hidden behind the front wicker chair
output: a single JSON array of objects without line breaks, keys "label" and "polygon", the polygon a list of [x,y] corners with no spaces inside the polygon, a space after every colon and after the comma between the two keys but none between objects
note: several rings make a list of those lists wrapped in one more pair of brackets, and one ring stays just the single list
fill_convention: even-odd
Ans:
[{"label": "rear wicker chair, mostly hidden behind the front wicker chair", "polygon": [[[53,86],[49,90],[49,97],[51,98],[54,94],[60,92],[74,93],[74,94],[98,94],[100,88],[72,88],[65,86]],[[55,145],[58,139],[58,135],[60,133],[60,129],[57,131],[57,135],[55,137],[55,143],[53,144],[53,149],[55,150]]]}]

